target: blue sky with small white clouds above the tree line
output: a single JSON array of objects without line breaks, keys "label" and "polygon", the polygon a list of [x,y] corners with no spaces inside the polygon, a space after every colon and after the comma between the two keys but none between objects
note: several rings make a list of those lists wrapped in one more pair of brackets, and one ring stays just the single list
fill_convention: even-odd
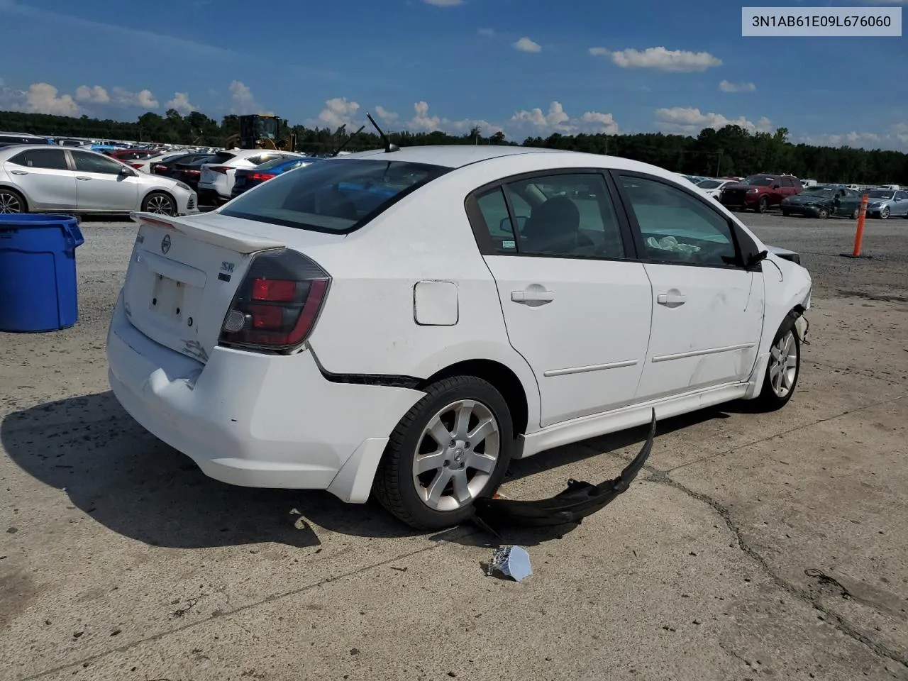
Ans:
[{"label": "blue sky with small white clouds above the tree line", "polygon": [[908,151],[908,37],[745,38],[727,0],[0,0],[0,79],[0,109],[123,120],[369,111],[518,141],[732,122]]}]

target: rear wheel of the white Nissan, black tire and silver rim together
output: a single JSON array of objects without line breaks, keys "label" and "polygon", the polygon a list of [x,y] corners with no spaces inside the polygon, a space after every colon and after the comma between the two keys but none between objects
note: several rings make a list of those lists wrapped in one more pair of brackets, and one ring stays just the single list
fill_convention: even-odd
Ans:
[{"label": "rear wheel of the white Nissan, black tire and silver rim together", "polygon": [[412,528],[459,525],[498,489],[515,442],[508,403],[488,381],[439,380],[391,433],[372,491]]}]

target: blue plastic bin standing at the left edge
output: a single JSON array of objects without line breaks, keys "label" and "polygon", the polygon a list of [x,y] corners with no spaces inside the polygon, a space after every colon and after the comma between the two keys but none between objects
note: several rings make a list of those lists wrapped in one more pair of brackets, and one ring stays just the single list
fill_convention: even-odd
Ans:
[{"label": "blue plastic bin standing at the left edge", "polygon": [[68,215],[0,214],[0,331],[75,324],[75,249],[84,241],[79,222]]}]

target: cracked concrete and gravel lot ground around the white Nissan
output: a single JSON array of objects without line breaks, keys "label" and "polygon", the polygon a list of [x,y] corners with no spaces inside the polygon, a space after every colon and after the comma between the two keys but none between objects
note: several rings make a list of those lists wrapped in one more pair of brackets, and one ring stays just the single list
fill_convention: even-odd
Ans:
[{"label": "cracked concrete and gravel lot ground around the white Nissan", "polygon": [[[908,221],[745,215],[816,282],[794,399],[659,424],[576,528],[408,531],[326,493],[232,488],[130,419],[104,334],[131,222],[84,222],[81,319],[0,334],[0,679],[908,679]],[[643,429],[516,463],[541,497]],[[816,570],[818,572],[813,572]]]}]

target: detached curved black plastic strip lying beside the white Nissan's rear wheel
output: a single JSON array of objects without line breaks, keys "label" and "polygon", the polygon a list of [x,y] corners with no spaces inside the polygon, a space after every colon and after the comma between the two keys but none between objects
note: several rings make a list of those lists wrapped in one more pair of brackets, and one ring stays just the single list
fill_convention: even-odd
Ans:
[{"label": "detached curved black plastic strip lying beside the white Nissan's rear wheel", "polygon": [[[552,498],[534,501],[485,497],[478,498],[473,505],[474,521],[479,527],[494,532],[494,528],[518,525],[523,527],[545,527],[579,523],[583,518],[604,508],[619,494],[630,487],[643,468],[656,437],[656,410],[649,426],[649,435],[640,452],[627,464],[616,479],[606,480],[599,485],[568,480],[568,489]],[[495,533],[497,534],[497,533]]]}]

